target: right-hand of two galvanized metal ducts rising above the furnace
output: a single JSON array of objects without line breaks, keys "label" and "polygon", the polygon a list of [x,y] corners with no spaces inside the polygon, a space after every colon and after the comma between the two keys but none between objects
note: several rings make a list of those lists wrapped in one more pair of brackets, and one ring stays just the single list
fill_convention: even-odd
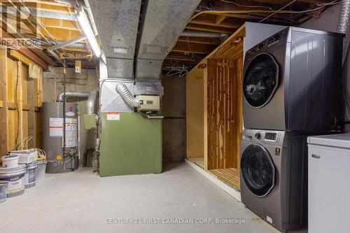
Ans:
[{"label": "right-hand of two galvanized metal ducts rising above the furnace", "polygon": [[200,0],[146,1],[136,78],[159,79],[162,63],[183,33]]}]

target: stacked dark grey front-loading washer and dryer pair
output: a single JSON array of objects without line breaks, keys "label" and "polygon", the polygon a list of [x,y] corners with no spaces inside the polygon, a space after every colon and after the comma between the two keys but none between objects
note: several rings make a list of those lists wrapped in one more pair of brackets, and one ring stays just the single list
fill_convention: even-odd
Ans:
[{"label": "stacked dark grey front-loading washer and dryer pair", "polygon": [[287,27],[245,55],[241,202],[283,232],[307,227],[307,136],[339,130],[342,41]]}]

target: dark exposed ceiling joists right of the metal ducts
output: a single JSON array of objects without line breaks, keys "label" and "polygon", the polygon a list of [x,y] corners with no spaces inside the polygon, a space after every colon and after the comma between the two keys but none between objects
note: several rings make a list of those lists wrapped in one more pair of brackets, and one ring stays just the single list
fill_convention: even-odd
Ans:
[{"label": "dark exposed ceiling joists right of the metal ducts", "polygon": [[[163,73],[192,69],[244,22],[297,25],[319,17],[341,1],[327,0],[202,0],[182,36],[163,63]],[[193,36],[194,33],[207,36]],[[210,34],[211,33],[211,34]],[[215,36],[214,36],[215,35]]]}]

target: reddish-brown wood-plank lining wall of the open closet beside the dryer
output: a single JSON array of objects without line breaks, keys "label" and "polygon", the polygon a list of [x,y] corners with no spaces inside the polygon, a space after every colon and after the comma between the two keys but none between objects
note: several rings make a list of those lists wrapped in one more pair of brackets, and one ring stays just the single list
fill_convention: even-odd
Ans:
[{"label": "reddish-brown wood-plank lining wall of the open closet beside the dryer", "polygon": [[239,167],[242,67],[243,53],[208,60],[208,169]]}]

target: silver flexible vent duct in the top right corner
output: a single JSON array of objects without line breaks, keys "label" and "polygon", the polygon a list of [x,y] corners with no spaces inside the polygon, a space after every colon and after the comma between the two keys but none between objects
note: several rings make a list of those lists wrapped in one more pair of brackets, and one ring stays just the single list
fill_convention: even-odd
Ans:
[{"label": "silver flexible vent duct in the top right corner", "polygon": [[345,34],[344,42],[343,42],[343,59],[342,62],[344,64],[346,53],[349,46],[349,23],[350,23],[350,0],[342,1],[342,7],[340,8],[339,22],[337,31]]}]

